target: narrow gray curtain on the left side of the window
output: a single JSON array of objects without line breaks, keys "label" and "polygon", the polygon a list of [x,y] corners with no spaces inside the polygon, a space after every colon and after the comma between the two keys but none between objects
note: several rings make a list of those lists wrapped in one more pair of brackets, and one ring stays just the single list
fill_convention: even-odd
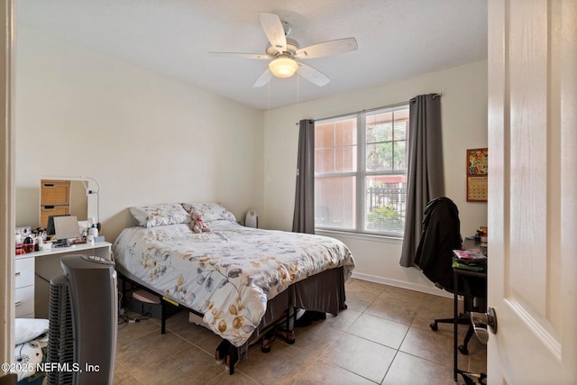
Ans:
[{"label": "narrow gray curtain on the left side of the window", "polygon": [[301,120],[292,231],[315,234],[315,121]]}]

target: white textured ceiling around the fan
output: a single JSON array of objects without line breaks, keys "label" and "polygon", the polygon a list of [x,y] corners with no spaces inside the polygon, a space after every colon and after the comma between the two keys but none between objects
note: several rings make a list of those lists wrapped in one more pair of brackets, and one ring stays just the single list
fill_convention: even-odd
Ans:
[{"label": "white textured ceiling around the fan", "polygon": [[[19,0],[17,24],[266,109],[331,96],[487,57],[486,0]],[[266,60],[258,12],[292,24],[301,47],[355,37],[359,49],[304,60],[331,82],[293,77],[252,87]]]}]

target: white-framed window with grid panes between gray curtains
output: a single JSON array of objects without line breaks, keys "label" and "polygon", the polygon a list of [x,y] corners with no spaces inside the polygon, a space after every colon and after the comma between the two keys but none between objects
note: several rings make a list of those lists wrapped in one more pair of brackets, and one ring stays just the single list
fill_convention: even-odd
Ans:
[{"label": "white-framed window with grid panes between gray curtains", "polygon": [[315,227],[402,236],[408,104],[315,124]]}]

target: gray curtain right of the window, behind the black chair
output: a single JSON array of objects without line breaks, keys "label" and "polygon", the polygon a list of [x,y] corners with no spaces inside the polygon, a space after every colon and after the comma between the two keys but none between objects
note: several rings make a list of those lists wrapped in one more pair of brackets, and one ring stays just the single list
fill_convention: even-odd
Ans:
[{"label": "gray curtain right of the window, behind the black chair", "polygon": [[441,96],[419,95],[409,104],[407,216],[400,265],[415,266],[426,204],[444,196]]}]

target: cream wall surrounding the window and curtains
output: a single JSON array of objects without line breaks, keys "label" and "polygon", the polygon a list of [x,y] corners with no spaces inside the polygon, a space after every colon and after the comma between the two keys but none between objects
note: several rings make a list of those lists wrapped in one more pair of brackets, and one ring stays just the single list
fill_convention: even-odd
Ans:
[{"label": "cream wall surrounding the window and curtains", "polygon": [[[266,217],[261,223],[269,228],[291,229],[298,147],[296,123],[300,119],[320,119],[394,105],[429,93],[443,94],[445,195],[459,207],[463,237],[474,234],[478,226],[487,225],[487,204],[466,201],[465,179],[466,150],[487,147],[487,60],[270,110],[265,116],[264,142]],[[432,285],[420,271],[399,266],[400,241],[332,235],[351,248],[357,263],[356,276],[438,294],[438,289],[430,289]]]}]

